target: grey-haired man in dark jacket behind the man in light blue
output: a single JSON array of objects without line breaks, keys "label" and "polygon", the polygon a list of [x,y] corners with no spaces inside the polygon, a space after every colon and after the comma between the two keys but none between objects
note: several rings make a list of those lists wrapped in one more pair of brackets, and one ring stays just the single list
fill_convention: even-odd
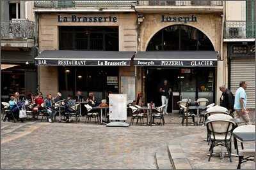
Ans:
[{"label": "grey-haired man in dark jacket behind the man in light blue", "polygon": [[225,85],[221,85],[220,90],[222,92],[220,106],[227,108],[227,110],[232,113],[234,111],[234,95]]}]

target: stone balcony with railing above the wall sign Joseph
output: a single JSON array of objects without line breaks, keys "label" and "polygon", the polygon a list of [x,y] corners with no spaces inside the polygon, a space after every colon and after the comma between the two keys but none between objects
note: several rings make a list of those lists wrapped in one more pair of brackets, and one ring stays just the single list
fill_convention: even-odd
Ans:
[{"label": "stone balcony with railing above the wall sign Joseph", "polygon": [[159,12],[193,12],[193,13],[222,13],[223,1],[213,0],[138,0],[136,11],[143,13]]}]

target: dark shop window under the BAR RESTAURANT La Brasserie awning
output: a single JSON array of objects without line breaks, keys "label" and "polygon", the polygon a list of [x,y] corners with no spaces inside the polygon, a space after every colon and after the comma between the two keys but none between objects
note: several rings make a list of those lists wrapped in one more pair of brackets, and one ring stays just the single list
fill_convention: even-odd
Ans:
[{"label": "dark shop window under the BAR RESTAURANT La Brasserie awning", "polygon": [[83,96],[94,92],[101,99],[108,91],[118,92],[118,82],[109,84],[109,76],[118,79],[118,67],[60,67],[60,92],[63,97],[74,96],[77,90]]}]

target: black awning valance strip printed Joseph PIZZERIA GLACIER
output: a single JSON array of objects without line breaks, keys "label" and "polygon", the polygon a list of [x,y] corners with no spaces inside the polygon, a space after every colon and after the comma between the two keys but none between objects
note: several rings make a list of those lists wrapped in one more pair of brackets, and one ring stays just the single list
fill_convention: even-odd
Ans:
[{"label": "black awning valance strip printed Joseph PIZZERIA GLACIER", "polygon": [[214,67],[216,60],[134,60],[134,66]]}]

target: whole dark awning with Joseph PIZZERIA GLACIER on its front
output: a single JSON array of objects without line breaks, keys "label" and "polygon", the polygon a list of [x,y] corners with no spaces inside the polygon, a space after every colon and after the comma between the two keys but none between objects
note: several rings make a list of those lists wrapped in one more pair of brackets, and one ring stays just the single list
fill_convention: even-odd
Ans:
[{"label": "whole dark awning with Joseph PIZZERIA GLACIER on its front", "polygon": [[214,51],[138,52],[134,66],[215,67],[217,57]]}]

